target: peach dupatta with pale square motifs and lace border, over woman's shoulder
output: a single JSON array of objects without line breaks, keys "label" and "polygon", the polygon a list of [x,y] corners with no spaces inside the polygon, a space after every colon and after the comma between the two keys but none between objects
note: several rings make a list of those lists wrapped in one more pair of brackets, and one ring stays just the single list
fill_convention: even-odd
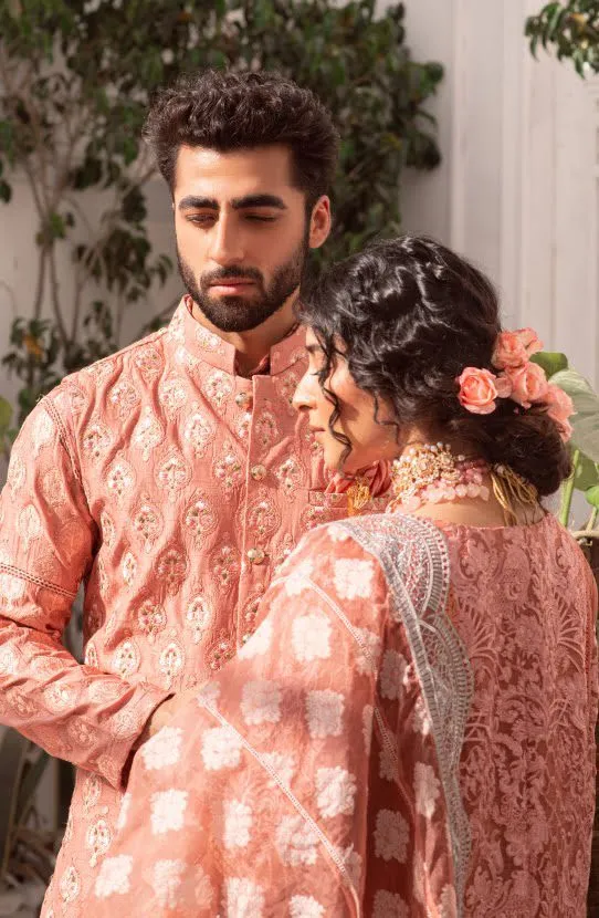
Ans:
[{"label": "peach dupatta with pale square motifs and lace border, over woman's shoulder", "polygon": [[138,751],[88,912],[461,916],[472,677],[448,588],[430,522],[309,533],[238,657]]}]

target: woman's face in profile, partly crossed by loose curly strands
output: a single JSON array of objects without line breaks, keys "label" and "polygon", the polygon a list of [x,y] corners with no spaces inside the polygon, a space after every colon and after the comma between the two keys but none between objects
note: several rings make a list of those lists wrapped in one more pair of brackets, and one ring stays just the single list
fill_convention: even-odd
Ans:
[{"label": "woman's face in profile, partly crossed by loose curly strands", "polygon": [[[295,392],[294,406],[307,415],[315,439],[323,447],[327,468],[337,470],[346,445],[336,440],[329,428],[335,406],[318,382],[325,354],[312,328],[307,330],[306,347],[308,368]],[[344,471],[354,473],[379,459],[393,459],[399,455],[401,450],[397,442],[397,428],[380,423],[392,419],[390,407],[380,403],[379,419],[375,419],[374,397],[356,385],[343,357],[337,356],[325,386],[339,403],[340,416],[335,421],[334,430],[351,442],[351,452],[344,465]]]}]

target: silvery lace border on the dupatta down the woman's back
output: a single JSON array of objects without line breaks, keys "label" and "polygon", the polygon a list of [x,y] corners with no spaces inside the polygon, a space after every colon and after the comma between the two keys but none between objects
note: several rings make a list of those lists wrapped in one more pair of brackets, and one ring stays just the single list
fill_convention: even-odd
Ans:
[{"label": "silvery lace border on the dupatta down the woman's back", "polygon": [[471,839],[459,769],[473,676],[465,648],[446,614],[448,546],[433,523],[413,517],[359,517],[335,525],[377,559],[389,584],[391,615],[406,628],[438,751],[458,915],[462,916]]}]

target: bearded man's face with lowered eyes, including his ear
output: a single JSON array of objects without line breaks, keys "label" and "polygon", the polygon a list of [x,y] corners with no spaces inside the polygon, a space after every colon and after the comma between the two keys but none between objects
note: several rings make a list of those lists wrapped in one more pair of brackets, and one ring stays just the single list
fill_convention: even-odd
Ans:
[{"label": "bearded man's face with lowered eyes, including his ear", "polygon": [[183,283],[222,332],[246,332],[277,312],[300,285],[308,248],[328,234],[328,199],[306,218],[283,146],[218,153],[179,150],[175,231]]}]

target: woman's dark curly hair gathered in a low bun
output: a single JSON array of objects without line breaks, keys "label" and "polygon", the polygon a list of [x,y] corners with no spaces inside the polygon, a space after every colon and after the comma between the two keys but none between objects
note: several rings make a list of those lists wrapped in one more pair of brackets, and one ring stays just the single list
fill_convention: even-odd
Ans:
[{"label": "woman's dark curly hair gathered in a low bun", "polygon": [[[568,477],[569,451],[546,406],[524,410],[502,398],[492,414],[472,415],[460,405],[455,379],[464,367],[493,371],[500,307],[484,274],[439,242],[402,236],[351,255],[319,278],[298,316],[325,352],[324,386],[343,354],[377,408],[381,400],[392,407],[398,428],[417,425],[467,442],[542,497]],[[351,445],[339,439],[347,455]]]}]

